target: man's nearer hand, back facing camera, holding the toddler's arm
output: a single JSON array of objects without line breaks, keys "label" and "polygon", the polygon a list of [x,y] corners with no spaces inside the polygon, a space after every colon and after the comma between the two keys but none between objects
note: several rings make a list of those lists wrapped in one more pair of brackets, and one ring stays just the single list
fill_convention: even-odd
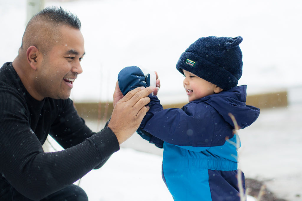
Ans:
[{"label": "man's nearer hand, back facing camera, holding the toddler's arm", "polygon": [[[115,89],[114,94],[118,98],[120,97],[117,91],[118,84]],[[114,132],[120,144],[131,137],[140,126],[149,110],[149,106],[145,106],[150,102],[148,95],[154,90],[154,87],[138,87],[115,104],[108,127]]]}]

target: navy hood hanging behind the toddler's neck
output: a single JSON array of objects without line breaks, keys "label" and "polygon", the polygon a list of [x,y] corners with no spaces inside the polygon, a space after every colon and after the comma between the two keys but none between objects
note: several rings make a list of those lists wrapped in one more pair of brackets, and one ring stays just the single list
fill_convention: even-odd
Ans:
[{"label": "navy hood hanging behind the toddler's neck", "polygon": [[228,91],[222,91],[199,100],[211,105],[233,127],[235,126],[229,113],[234,115],[240,128],[251,125],[260,114],[259,108],[246,105],[246,85],[236,86]]}]

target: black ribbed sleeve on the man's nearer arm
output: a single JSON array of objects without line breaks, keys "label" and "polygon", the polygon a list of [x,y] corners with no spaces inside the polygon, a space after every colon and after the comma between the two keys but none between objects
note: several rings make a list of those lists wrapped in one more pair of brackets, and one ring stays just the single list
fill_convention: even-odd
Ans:
[{"label": "black ribbed sleeve on the man's nearer arm", "polygon": [[[119,150],[117,138],[109,127],[92,133],[79,120],[75,121],[82,121],[79,125],[75,122],[64,124],[66,128],[67,125],[74,126],[72,131],[65,133],[68,137],[57,133],[65,150],[43,152],[29,125],[26,107],[21,94],[1,90],[0,172],[18,192],[30,199],[42,199],[74,183]],[[54,128],[53,135],[59,130]],[[66,142],[71,139],[76,140]]]}]

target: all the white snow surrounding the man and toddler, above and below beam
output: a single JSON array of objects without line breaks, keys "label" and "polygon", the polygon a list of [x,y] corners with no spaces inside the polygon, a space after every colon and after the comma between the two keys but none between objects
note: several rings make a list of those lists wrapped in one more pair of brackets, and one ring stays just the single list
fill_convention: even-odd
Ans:
[{"label": "all the white snow surrounding the man and toddler, above and below beam", "polygon": [[[46,1],[77,14],[86,55],[75,102],[110,101],[120,69],[157,71],[162,103],[184,102],[179,56],[203,36],[242,36],[248,94],[288,90],[287,108],[261,111],[239,130],[239,167],[278,196],[302,200],[302,2],[288,0]],[[25,0],[0,0],[0,63],[13,61],[26,24]],[[95,122],[88,122],[95,129]],[[150,153],[136,150],[149,151]],[[172,200],[161,179],[161,150],[133,136],[99,170],[82,178],[90,200]],[[300,195],[300,196],[299,196]]]}]

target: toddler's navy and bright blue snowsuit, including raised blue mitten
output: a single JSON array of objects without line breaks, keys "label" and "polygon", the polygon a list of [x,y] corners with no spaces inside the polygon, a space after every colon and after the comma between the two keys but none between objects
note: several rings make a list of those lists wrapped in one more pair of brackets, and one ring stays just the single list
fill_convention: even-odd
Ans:
[{"label": "toddler's navy and bright blue snowsuit, including raised blue mitten", "polygon": [[[148,75],[135,66],[121,70],[118,81],[123,94],[149,86]],[[164,110],[156,96],[149,97],[150,109],[137,132],[163,147],[162,177],[174,200],[240,200],[236,149],[240,141],[228,114],[235,116],[240,128],[258,118],[259,109],[246,105],[246,85],[191,101],[181,109]]]}]

